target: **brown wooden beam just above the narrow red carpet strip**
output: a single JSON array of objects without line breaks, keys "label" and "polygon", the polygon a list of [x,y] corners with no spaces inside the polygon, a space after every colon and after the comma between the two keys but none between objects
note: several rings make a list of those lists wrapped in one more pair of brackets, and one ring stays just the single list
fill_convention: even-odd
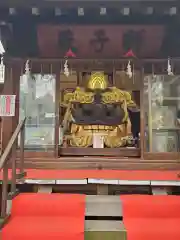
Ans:
[{"label": "brown wooden beam just above the narrow red carpet strip", "polygon": [[[19,160],[18,160],[19,161]],[[121,157],[25,157],[25,168],[30,169],[116,169],[116,170],[180,170],[178,160]]]}]

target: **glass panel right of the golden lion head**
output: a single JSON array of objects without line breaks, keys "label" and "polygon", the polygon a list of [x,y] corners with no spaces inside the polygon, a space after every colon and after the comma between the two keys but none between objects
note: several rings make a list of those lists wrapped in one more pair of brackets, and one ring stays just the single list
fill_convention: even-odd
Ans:
[{"label": "glass panel right of the golden lion head", "polygon": [[179,152],[180,76],[144,79],[145,145],[149,152]]}]

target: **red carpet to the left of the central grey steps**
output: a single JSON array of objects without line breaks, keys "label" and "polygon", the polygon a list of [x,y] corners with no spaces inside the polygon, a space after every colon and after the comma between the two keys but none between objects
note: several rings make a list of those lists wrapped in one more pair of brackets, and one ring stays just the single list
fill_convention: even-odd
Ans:
[{"label": "red carpet to the left of the central grey steps", "polygon": [[85,196],[20,194],[3,240],[84,240]]}]

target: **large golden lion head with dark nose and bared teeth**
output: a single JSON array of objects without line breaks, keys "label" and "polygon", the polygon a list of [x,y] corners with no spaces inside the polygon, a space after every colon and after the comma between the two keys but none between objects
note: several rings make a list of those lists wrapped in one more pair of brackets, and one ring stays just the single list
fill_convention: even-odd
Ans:
[{"label": "large golden lion head with dark nose and bared teeth", "polygon": [[85,75],[83,86],[61,93],[59,155],[140,156],[140,91],[132,91],[133,80],[121,73],[132,81],[128,91],[102,71]]}]

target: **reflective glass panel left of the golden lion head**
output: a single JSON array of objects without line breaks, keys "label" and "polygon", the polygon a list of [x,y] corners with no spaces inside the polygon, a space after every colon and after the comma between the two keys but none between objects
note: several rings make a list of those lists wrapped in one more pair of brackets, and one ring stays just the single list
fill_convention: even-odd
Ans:
[{"label": "reflective glass panel left of the golden lion head", "polygon": [[25,148],[51,148],[55,132],[55,76],[32,74],[20,78],[20,120],[25,125]]}]

